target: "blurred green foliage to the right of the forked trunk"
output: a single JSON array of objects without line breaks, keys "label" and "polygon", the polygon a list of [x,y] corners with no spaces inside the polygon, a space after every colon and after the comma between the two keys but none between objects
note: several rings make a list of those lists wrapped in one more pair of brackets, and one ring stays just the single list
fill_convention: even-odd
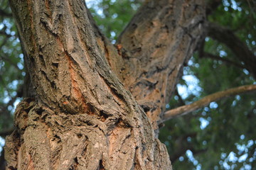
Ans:
[{"label": "blurred green foliage to the right of the forked trunk", "polygon": [[[223,1],[208,16],[208,21],[233,30],[255,52],[256,26],[253,20],[255,11],[246,1]],[[183,98],[174,96],[169,103],[172,108],[180,105],[178,99],[190,103],[215,91],[255,84],[247,69],[238,67],[243,63],[224,44],[206,38],[203,50],[221,57],[221,60],[196,53],[184,74],[198,79],[200,95],[194,95],[195,89],[190,88],[191,82],[184,76],[185,81],[181,81],[180,86],[185,86],[189,95]],[[170,120],[161,130],[160,139],[168,145],[170,155],[180,156],[174,157],[174,169],[253,169],[256,160],[255,114],[255,94],[225,98],[192,115]]]}]

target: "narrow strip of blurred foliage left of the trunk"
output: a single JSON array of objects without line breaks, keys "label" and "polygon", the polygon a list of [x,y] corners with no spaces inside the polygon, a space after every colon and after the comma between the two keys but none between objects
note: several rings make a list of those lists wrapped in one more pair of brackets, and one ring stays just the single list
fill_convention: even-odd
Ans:
[{"label": "narrow strip of blurred foliage left of the trunk", "polygon": [[0,15],[0,130],[12,126],[18,86],[23,83],[23,55],[8,1],[1,1]]}]

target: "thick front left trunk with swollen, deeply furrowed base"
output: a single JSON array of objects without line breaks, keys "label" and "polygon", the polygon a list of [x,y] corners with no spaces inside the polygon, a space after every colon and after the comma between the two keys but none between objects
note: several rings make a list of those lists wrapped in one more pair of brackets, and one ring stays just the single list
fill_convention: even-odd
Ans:
[{"label": "thick front left trunk with swollen, deeply furrowed base", "polygon": [[[84,2],[13,0],[11,7],[36,98],[17,107],[20,137],[6,140],[7,167],[171,169],[146,114],[108,67]],[[157,152],[165,152],[161,162]]]}]

